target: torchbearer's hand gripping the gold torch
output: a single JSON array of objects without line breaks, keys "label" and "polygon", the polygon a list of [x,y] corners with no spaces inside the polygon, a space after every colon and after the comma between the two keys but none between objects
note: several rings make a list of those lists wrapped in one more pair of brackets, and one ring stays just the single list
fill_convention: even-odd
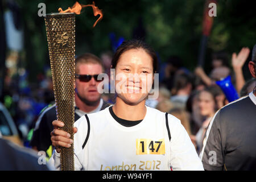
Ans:
[{"label": "torchbearer's hand gripping the gold torch", "polygon": [[[59,147],[71,147],[73,140],[70,139],[71,135],[66,131],[60,130],[64,126],[64,123],[58,120],[52,122],[53,131],[51,132],[52,145],[56,148],[56,151],[59,153]],[[77,133],[77,128],[73,128],[73,132]]]}]

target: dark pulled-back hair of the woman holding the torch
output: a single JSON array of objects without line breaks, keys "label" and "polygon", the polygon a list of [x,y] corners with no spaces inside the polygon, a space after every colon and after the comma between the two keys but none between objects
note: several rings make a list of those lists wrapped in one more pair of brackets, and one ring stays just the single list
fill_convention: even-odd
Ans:
[{"label": "dark pulled-back hair of the woman holding the torch", "polygon": [[144,51],[148,53],[148,55],[151,56],[153,61],[153,72],[156,73],[158,71],[158,57],[156,56],[154,49],[152,49],[142,40],[136,40],[136,39],[126,40],[117,48],[117,51],[115,51],[112,59],[112,68],[115,68],[117,66],[118,60],[123,53],[125,53],[126,51],[129,51],[130,49],[139,49],[139,48],[142,48]]}]

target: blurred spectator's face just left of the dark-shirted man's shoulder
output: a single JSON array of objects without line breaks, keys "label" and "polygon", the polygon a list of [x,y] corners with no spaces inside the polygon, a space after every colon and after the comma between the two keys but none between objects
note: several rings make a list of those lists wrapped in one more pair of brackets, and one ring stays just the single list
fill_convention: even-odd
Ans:
[{"label": "blurred spectator's face just left of the dark-shirted man's shoulder", "polygon": [[214,114],[215,102],[212,94],[207,91],[202,91],[199,94],[199,107],[201,115],[210,117]]}]

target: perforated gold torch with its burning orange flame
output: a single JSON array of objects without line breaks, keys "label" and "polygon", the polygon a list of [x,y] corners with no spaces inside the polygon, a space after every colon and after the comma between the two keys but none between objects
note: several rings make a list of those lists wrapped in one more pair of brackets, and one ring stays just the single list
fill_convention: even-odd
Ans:
[{"label": "perforated gold torch with its burning orange flame", "polygon": [[[80,5],[76,2],[72,8],[60,13],[46,14],[46,32],[51,61],[52,82],[56,103],[57,119],[64,122],[61,130],[67,131],[73,139],[73,123],[75,119],[75,14],[80,14],[82,7],[91,6],[94,16],[100,15],[96,23],[102,19],[102,11],[93,5]],[[61,147],[61,171],[74,170],[74,150]]]}]

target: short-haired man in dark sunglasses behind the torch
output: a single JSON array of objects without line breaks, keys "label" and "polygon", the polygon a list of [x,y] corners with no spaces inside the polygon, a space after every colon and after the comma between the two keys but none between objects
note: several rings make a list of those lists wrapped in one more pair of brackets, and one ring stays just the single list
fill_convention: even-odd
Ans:
[{"label": "short-haired man in dark sunglasses behind the torch", "polygon": [[[97,80],[104,72],[102,61],[91,53],[84,53],[75,60],[75,121],[82,115],[95,113],[110,104],[101,98],[97,86],[103,80]],[[52,121],[56,120],[55,104],[41,111],[35,123],[30,145],[34,150],[46,151],[50,157]]]}]

